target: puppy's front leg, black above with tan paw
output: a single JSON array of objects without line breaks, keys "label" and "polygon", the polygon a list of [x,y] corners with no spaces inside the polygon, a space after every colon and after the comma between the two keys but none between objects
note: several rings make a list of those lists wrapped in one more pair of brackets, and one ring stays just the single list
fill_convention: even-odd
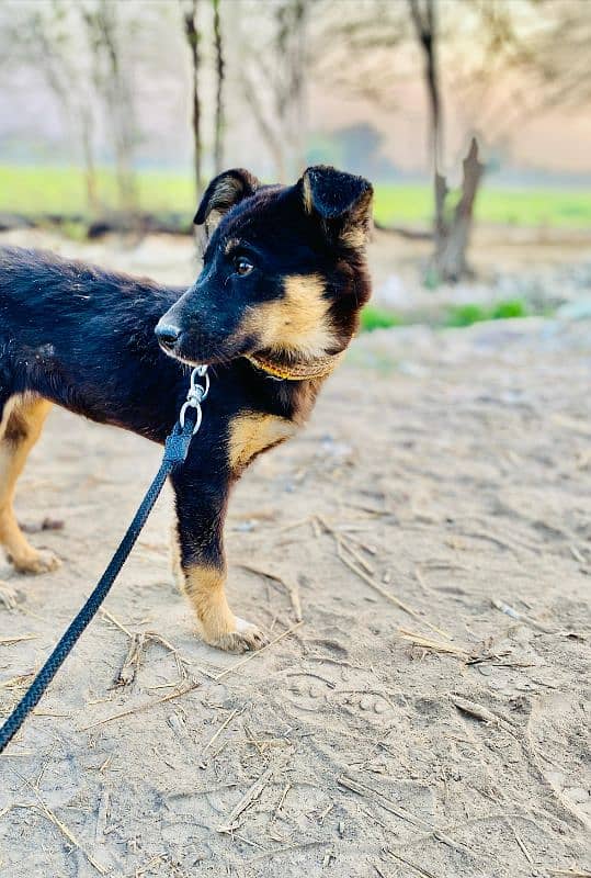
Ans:
[{"label": "puppy's front leg, black above with tan paw", "polygon": [[228,485],[200,479],[189,466],[171,477],[177,495],[177,536],[182,583],[203,639],[227,652],[258,650],[265,635],[238,618],[225,594],[224,521]]}]

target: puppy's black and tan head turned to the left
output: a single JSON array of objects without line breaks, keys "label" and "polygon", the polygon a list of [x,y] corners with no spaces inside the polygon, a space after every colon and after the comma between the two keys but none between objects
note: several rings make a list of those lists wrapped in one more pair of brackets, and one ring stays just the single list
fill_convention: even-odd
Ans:
[{"label": "puppy's black and tan head turned to the left", "polygon": [[216,177],[195,216],[203,270],[159,322],[162,349],[189,363],[344,350],[370,296],[372,195],[363,178],[322,166],[292,187],[245,170]]}]

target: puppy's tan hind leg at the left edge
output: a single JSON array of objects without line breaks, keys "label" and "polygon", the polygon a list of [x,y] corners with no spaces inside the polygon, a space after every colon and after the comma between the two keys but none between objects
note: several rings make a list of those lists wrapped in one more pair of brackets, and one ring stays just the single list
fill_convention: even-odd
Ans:
[{"label": "puppy's tan hind leg at the left edge", "polygon": [[21,573],[44,573],[59,563],[50,553],[37,552],[29,544],[13,508],[16,480],[50,408],[52,404],[39,397],[13,397],[0,424],[0,545]]}]

